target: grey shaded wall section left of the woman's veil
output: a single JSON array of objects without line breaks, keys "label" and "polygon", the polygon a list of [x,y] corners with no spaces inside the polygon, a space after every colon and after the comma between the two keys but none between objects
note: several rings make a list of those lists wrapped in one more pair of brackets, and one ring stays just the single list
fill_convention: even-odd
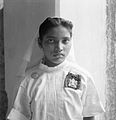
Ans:
[{"label": "grey shaded wall section left of the woman's veil", "polygon": [[5,1],[5,82],[8,94],[8,112],[11,109],[16,87],[20,83],[16,75],[25,50],[36,32],[37,26],[47,16],[54,15],[55,0]]}]

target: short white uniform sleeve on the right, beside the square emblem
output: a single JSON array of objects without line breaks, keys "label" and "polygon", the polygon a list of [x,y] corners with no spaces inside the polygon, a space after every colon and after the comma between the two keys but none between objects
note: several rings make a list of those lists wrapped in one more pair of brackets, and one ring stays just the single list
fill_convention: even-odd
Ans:
[{"label": "short white uniform sleeve on the right, beside the square emblem", "polygon": [[93,79],[88,78],[86,90],[83,95],[83,117],[95,116],[104,111]]}]

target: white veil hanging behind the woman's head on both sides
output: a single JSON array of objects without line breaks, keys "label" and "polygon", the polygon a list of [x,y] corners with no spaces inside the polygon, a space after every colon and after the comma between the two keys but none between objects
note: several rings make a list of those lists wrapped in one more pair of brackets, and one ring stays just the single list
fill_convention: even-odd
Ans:
[{"label": "white veil hanging behind the woman's head on both sides", "polygon": [[[23,62],[17,74],[18,77],[24,77],[27,69],[34,67],[41,62],[44,53],[38,45],[38,38],[39,38],[39,27],[37,28],[37,31],[33,39],[31,40],[27,50],[24,53],[24,57],[22,60]],[[66,60],[72,63],[76,63],[76,59],[74,55],[74,47],[73,47],[73,35],[71,42],[72,42],[72,46]]]}]

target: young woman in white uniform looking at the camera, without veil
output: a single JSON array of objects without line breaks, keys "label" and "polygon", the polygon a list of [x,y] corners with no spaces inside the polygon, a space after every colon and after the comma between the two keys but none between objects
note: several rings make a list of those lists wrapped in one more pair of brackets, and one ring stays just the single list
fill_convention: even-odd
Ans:
[{"label": "young woman in white uniform looking at the camera, without veil", "polygon": [[9,120],[94,120],[104,111],[91,76],[67,61],[70,21],[48,17],[39,27],[39,65],[26,71]]}]

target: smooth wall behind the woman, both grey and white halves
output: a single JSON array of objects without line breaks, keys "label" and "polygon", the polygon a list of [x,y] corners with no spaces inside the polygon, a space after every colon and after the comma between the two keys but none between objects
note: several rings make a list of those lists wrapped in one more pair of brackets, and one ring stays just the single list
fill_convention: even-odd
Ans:
[{"label": "smooth wall behind the woman, both grey and white halves", "polygon": [[60,4],[58,0],[9,0],[4,10],[8,112],[20,83],[16,75],[22,57],[37,26],[46,16],[59,14],[73,21],[76,61],[92,74],[105,103],[105,0],[60,0]]}]

